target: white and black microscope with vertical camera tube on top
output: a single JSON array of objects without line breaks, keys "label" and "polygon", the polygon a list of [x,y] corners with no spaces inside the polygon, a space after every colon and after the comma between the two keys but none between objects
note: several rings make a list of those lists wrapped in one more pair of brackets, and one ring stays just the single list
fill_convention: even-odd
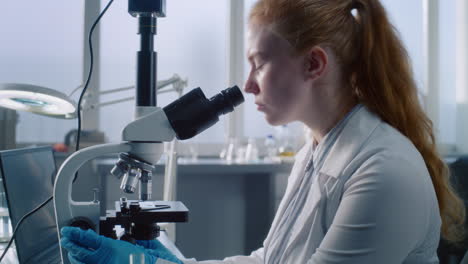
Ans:
[{"label": "white and black microscope with vertical camera tube on top", "polygon": [[[219,116],[234,110],[244,101],[237,86],[225,89],[207,99],[200,88],[164,108],[156,104],[156,52],[154,35],[156,18],[165,17],[165,0],[129,0],[128,12],[138,19],[141,50],[137,52],[135,120],[122,131],[121,143],[84,148],[68,157],[60,167],[54,185],[54,206],[57,228],[76,226],[118,239],[115,227],[125,232],[121,240],[151,240],[159,235],[158,223],[186,222],[188,209],[179,201],[151,201],[152,172],[164,152],[163,142],[174,138],[189,139],[206,130]],[[139,200],[121,198],[115,210],[100,214],[97,194],[93,201],[72,200],[73,179],[79,168],[97,157],[119,153],[119,160],[111,174],[121,179],[120,189],[134,193]],[[86,177],[87,175],[80,175]],[[69,263],[63,248],[62,262]]]}]

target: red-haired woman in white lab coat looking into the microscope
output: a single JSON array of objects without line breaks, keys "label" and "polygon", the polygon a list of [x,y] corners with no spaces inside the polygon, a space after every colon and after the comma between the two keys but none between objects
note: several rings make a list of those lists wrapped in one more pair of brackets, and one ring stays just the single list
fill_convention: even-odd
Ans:
[{"label": "red-haired woman in white lab coat looking into the microscope", "polygon": [[439,263],[465,211],[381,3],[259,0],[248,40],[245,92],[270,124],[300,121],[312,140],[262,248],[184,263]]}]

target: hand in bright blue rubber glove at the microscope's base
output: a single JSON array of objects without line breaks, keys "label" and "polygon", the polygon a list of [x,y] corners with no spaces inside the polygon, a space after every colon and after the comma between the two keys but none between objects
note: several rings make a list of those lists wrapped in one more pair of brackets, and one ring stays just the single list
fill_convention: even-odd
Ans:
[{"label": "hand in bright blue rubber glove at the microscope's base", "polygon": [[130,254],[142,254],[145,263],[150,264],[156,263],[158,258],[164,259],[162,256],[158,257],[154,252],[150,252],[150,249],[126,241],[99,236],[92,230],[84,231],[76,227],[63,227],[61,233],[60,243],[68,251],[69,259],[73,264],[127,264]]}]

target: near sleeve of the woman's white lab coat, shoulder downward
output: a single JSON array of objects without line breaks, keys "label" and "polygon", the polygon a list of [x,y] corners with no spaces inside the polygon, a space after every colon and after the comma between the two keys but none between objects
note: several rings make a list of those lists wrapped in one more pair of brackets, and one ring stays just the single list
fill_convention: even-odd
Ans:
[{"label": "near sleeve of the woman's white lab coat, shoulder downward", "polygon": [[368,159],[345,183],[332,224],[308,264],[402,263],[424,240],[429,175],[396,156]]}]

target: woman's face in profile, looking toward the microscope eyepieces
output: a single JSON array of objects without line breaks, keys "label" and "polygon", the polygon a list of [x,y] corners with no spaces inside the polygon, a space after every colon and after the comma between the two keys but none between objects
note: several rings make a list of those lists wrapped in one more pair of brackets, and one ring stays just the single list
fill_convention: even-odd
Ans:
[{"label": "woman's face in profile, looking toward the microscope eyepieces", "polygon": [[298,120],[306,100],[304,60],[268,27],[251,24],[247,58],[251,69],[244,91],[255,96],[257,109],[271,125]]}]

